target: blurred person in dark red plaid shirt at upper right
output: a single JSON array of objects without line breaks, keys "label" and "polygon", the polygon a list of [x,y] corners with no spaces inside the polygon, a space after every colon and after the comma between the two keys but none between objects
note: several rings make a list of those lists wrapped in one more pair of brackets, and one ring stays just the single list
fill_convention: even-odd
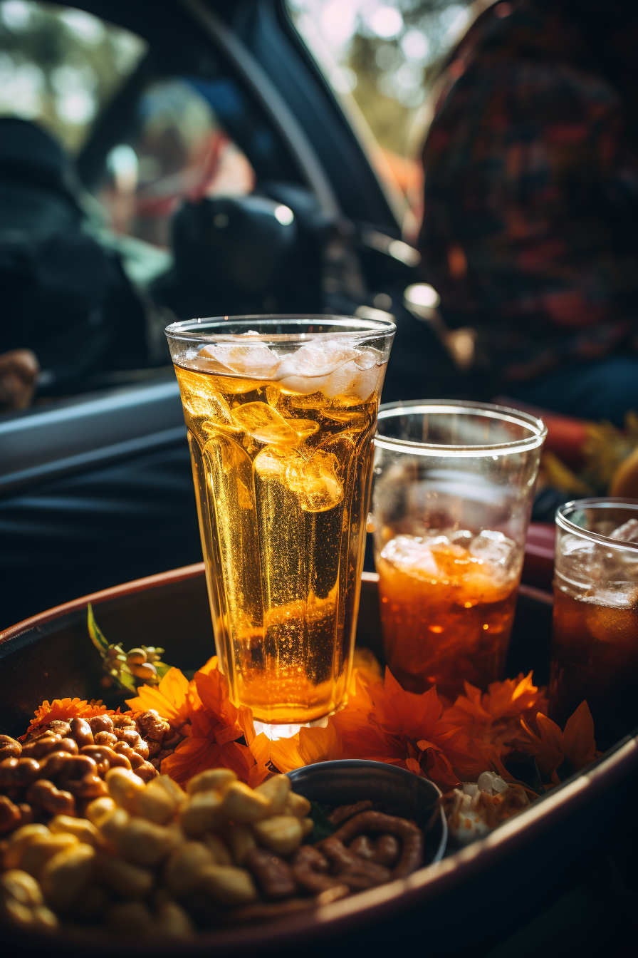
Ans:
[{"label": "blurred person in dark red plaid shirt at upper right", "polygon": [[638,409],[637,48],[635,0],[507,0],[447,57],[419,245],[485,395]]}]

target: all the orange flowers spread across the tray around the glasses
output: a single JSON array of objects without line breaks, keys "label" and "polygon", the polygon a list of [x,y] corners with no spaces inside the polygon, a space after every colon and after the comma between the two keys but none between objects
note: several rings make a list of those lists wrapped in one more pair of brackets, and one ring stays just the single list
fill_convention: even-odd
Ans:
[{"label": "all the orange flowers spread across the tray around the glasses", "polygon": [[[127,705],[134,716],[155,709],[185,736],[162,763],[162,771],[180,783],[224,765],[255,787],[272,767],[287,772],[335,759],[370,759],[427,776],[447,791],[475,781],[487,769],[511,781],[508,759],[530,756],[545,787],[552,787],[560,781],[561,764],[578,770],[600,754],[586,703],[561,732],[545,715],[547,699],[533,684],[532,673],[493,682],[487,693],[466,683],[466,694],[446,708],[436,688],[416,695],[402,689],[389,670],[384,679],[371,653],[360,653],[355,664],[345,708],[322,726],[301,728],[291,739],[255,735],[253,714],[231,703],[216,656],[191,681],[179,669],[170,669],[158,686],[141,686]],[[30,728],[104,712],[114,714],[100,701],[55,699],[42,703]]]}]

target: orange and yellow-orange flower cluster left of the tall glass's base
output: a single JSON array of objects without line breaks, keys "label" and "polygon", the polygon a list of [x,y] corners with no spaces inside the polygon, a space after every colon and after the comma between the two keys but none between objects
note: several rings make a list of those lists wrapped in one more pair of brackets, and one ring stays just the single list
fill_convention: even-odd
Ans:
[{"label": "orange and yellow-orange flower cluster left of the tall glass's base", "polygon": [[[138,693],[126,702],[134,715],[155,709],[187,736],[162,763],[162,771],[176,782],[185,783],[198,772],[220,765],[231,768],[251,787],[270,774],[268,740],[255,736],[251,710],[231,703],[216,655],[190,682],[179,669],[169,669],[156,688],[143,685]],[[237,741],[242,738],[246,744]]]}]

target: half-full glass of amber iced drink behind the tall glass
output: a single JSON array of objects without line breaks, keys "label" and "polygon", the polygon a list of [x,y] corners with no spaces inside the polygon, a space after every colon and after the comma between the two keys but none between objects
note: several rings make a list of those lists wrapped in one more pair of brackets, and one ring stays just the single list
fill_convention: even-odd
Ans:
[{"label": "half-full glass of amber iced drink behind the tall glass", "polygon": [[405,689],[500,677],[545,438],[487,403],[381,407],[372,524],[385,658]]}]

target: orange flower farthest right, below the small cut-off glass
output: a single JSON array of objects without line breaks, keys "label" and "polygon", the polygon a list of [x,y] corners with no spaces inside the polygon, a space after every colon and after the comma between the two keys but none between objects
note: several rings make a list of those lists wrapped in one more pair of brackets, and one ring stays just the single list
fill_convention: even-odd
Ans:
[{"label": "orange flower farthest right, below the small cut-off glass", "polygon": [[524,719],[520,719],[520,723],[528,738],[529,754],[536,756],[541,777],[550,779],[551,785],[546,788],[561,784],[556,769],[563,762],[578,771],[603,754],[596,751],[594,720],[586,702],[581,702],[573,716],[567,719],[562,732],[556,722],[540,712],[536,718],[539,735],[534,734]]}]

